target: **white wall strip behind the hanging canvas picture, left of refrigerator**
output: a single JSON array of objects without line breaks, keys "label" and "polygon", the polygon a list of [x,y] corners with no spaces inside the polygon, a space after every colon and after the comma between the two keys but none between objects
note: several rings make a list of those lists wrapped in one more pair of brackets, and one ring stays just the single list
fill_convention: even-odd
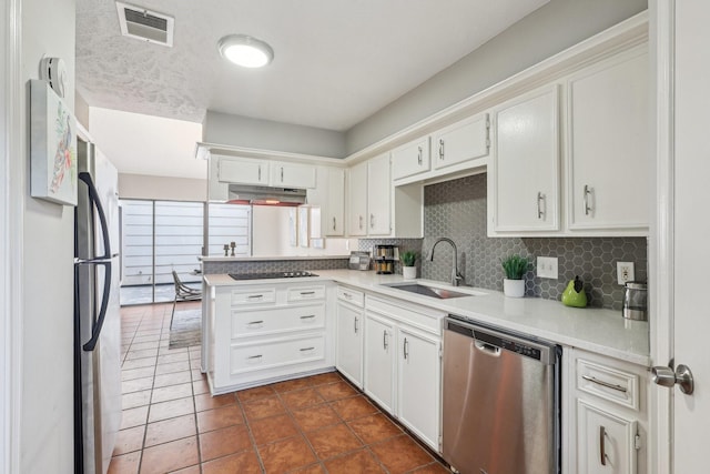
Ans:
[{"label": "white wall strip behind the hanging canvas picture, left of refrigerator", "polygon": [[[74,0],[21,0],[23,143],[29,143],[29,79],[43,54],[67,63],[74,108]],[[29,148],[21,159],[21,473],[73,472],[73,208],[30,198]]]}]

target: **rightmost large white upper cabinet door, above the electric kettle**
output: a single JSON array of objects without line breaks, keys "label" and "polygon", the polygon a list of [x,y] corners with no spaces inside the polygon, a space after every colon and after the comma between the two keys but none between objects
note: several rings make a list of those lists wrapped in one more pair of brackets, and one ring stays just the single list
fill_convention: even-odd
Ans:
[{"label": "rightmost large white upper cabinet door, above the electric kettle", "polygon": [[569,228],[647,229],[649,65],[646,47],[569,79]]}]

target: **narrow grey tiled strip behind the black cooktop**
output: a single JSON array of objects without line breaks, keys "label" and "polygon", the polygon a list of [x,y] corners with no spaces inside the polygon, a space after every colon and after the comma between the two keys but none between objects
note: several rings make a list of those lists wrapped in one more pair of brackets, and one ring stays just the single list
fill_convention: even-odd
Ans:
[{"label": "narrow grey tiled strip behind the black cooktop", "polygon": [[204,274],[272,273],[347,269],[348,259],[250,260],[234,262],[202,262]]}]

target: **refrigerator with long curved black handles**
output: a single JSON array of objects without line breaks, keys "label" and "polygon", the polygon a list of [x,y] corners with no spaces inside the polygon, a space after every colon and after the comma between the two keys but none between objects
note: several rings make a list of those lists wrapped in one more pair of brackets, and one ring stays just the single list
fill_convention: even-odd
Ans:
[{"label": "refrigerator with long curved black handles", "polygon": [[118,171],[79,140],[74,209],[74,472],[105,474],[121,427]]}]

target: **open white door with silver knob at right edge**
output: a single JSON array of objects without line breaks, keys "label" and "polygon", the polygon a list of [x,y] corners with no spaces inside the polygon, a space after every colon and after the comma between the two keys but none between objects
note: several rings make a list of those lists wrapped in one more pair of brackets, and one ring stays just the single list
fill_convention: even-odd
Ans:
[{"label": "open white door with silver knob at right edge", "polygon": [[[657,3],[659,14],[672,13],[671,9],[666,10],[663,2]],[[672,18],[672,14],[668,17]],[[669,252],[673,269],[671,356],[676,365],[688,365],[696,380],[692,395],[683,394],[678,385],[671,389],[674,474],[708,472],[710,357],[706,347],[710,314],[703,288],[708,271],[703,264],[710,261],[710,212],[704,205],[710,182],[709,24],[710,2],[674,2],[674,120],[671,120],[674,130],[674,224],[670,233],[674,242]],[[656,362],[662,365],[667,361]]]}]

